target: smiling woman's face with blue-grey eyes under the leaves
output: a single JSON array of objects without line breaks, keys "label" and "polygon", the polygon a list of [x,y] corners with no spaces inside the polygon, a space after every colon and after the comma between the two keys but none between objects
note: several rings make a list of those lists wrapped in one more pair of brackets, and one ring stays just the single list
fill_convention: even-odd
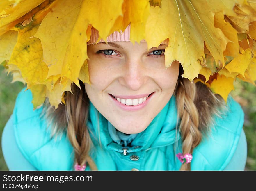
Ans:
[{"label": "smiling woman's face with blue-grey eyes under the leaves", "polygon": [[109,42],[88,45],[91,85],[86,92],[95,108],[119,131],[140,133],[170,100],[179,62],[165,68],[161,44]]}]

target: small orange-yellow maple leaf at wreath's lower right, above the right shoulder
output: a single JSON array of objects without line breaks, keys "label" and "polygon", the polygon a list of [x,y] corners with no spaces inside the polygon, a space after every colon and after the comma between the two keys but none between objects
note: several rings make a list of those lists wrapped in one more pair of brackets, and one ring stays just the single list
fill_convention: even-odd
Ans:
[{"label": "small orange-yellow maple leaf at wreath's lower right, above the right shoulder", "polygon": [[228,94],[231,90],[234,90],[234,78],[226,77],[224,75],[217,75],[217,79],[214,79],[211,83],[211,91],[215,94],[221,95],[227,103]]}]

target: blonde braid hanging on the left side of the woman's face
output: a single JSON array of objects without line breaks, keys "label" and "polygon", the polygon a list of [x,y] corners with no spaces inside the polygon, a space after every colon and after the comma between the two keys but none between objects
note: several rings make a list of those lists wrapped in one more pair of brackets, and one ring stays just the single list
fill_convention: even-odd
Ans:
[{"label": "blonde braid hanging on the left side of the woman's face", "polygon": [[66,117],[68,121],[67,134],[74,147],[75,160],[78,165],[89,164],[91,170],[96,170],[93,160],[89,156],[90,135],[86,126],[89,111],[89,98],[85,92],[85,86],[79,81],[80,87],[71,85],[71,92],[67,92],[66,97]]}]

